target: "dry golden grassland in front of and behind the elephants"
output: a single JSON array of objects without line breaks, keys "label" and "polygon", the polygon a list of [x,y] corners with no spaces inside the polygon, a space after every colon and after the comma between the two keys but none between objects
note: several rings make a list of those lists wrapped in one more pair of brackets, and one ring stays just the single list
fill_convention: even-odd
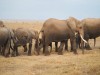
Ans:
[{"label": "dry golden grassland in front of and behind the elephants", "polygon": [[[38,31],[42,24],[42,21],[5,22],[9,28],[25,27]],[[96,47],[93,46],[93,40],[90,40],[90,45],[93,50],[85,50],[84,55],[81,50],[78,50],[78,55],[65,51],[63,55],[57,55],[53,47],[50,56],[35,56],[33,53],[32,56],[27,56],[19,48],[18,57],[0,56],[0,75],[100,75],[100,38],[97,38]]]}]

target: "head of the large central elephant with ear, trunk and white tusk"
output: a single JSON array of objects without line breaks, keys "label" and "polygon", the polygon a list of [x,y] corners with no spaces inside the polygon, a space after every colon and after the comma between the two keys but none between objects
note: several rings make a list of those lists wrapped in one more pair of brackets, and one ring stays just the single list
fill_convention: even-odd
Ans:
[{"label": "head of the large central elephant with ear, trunk and white tusk", "polygon": [[[69,26],[69,28],[71,29],[71,31],[76,34],[76,32],[79,33],[80,37],[81,37],[81,45],[82,48],[84,46],[84,42],[88,43],[85,39],[84,39],[84,26],[83,26],[84,22],[81,22],[79,20],[77,20],[74,17],[69,17],[69,19],[67,20],[67,24]],[[84,52],[83,52],[84,53]]]}]

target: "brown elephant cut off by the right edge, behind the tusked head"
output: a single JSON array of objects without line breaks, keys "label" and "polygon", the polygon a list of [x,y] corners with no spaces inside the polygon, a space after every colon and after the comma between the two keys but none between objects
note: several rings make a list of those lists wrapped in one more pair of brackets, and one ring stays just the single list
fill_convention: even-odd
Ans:
[{"label": "brown elephant cut off by the right edge, behind the tusked head", "polygon": [[[83,19],[79,26],[84,39],[87,41],[89,41],[89,39],[94,39],[95,45],[95,39],[100,36],[100,18]],[[86,48],[91,49],[89,44],[86,45]]]}]

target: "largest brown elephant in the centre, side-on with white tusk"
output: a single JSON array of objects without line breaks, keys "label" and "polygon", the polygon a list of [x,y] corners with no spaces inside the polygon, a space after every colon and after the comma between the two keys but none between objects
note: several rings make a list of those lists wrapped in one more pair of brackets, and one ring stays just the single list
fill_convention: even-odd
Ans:
[{"label": "largest brown elephant in the centre, side-on with white tusk", "polygon": [[[58,20],[58,19],[48,19],[44,22],[43,27],[39,33],[39,39],[42,41],[43,48],[45,49],[45,55],[49,55],[48,46],[51,42],[59,42],[61,41],[61,45],[58,50],[58,54],[62,54],[62,48],[64,46],[64,40],[71,40],[71,49],[75,54],[77,54],[76,50],[76,38],[75,32],[78,31],[77,28],[80,21],[77,19],[70,17],[67,20]],[[80,29],[81,30],[81,29]],[[82,38],[82,37],[81,37]],[[84,40],[82,38],[82,40]],[[85,40],[84,40],[85,41]],[[86,41],[85,41],[86,42]],[[41,45],[40,44],[40,45]],[[39,47],[37,49],[37,54],[39,54]]]}]

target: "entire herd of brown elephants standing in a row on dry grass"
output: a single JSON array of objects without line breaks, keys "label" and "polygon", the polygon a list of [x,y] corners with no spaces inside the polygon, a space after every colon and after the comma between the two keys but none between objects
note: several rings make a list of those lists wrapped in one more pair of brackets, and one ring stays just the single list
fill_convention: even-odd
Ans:
[{"label": "entire herd of brown elephants standing in a row on dry grass", "polygon": [[[66,20],[58,20],[50,18],[46,20],[38,32],[34,29],[17,28],[16,30],[7,28],[0,21],[0,54],[8,57],[18,56],[18,47],[23,46],[24,52],[31,55],[32,40],[34,39],[34,54],[39,55],[43,48],[44,55],[50,55],[49,46],[52,47],[52,42],[55,42],[55,51],[59,55],[63,54],[63,47],[68,50],[68,40],[70,39],[71,51],[77,54],[77,48],[82,50],[91,49],[89,39],[94,39],[100,36],[100,19],[87,18],[78,20],[74,17],[69,17]],[[58,42],[60,46],[58,47]],[[27,44],[29,45],[27,49]],[[10,52],[12,50],[12,52]],[[27,51],[28,50],[28,51]]]}]

